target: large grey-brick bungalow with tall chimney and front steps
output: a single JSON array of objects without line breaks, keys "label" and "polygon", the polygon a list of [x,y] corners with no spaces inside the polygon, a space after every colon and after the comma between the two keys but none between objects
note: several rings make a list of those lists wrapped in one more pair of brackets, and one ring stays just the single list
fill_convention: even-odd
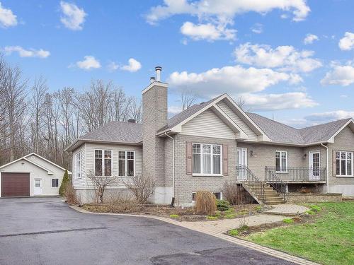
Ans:
[{"label": "large grey-brick bungalow with tall chimney and front steps", "polygon": [[354,195],[353,119],[295,129],[244,112],[227,94],[168,119],[161,67],[156,76],[142,90],[142,124],[110,122],[67,148],[84,201],[94,192],[88,174],[120,179],[110,189],[127,192],[124,180],[142,172],[156,180],[156,204],[190,205],[200,189],[222,198],[225,182],[243,185],[260,203],[303,188]]}]

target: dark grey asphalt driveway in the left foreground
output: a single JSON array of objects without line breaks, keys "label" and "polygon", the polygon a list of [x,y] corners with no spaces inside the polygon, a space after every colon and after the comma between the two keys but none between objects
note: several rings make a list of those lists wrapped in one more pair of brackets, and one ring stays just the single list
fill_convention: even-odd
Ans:
[{"label": "dark grey asphalt driveway in the left foreground", "polygon": [[0,199],[0,264],[291,264],[150,218],[79,213],[59,198]]}]

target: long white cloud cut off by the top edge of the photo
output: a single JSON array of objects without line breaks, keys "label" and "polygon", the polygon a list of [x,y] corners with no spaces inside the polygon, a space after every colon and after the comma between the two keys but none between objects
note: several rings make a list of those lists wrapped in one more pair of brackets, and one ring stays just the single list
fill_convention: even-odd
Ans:
[{"label": "long white cloud cut off by the top edge of the photo", "polygon": [[232,20],[237,14],[247,12],[264,14],[273,9],[292,11],[295,21],[304,20],[310,11],[305,0],[199,0],[190,2],[187,0],[164,0],[163,5],[151,8],[147,15],[147,21],[154,24],[159,20],[178,14],[226,21]]}]

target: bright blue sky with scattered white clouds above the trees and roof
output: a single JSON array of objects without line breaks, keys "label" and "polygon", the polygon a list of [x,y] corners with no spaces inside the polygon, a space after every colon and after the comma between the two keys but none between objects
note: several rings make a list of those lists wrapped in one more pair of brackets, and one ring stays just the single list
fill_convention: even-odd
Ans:
[{"label": "bright blue sky with scattered white clouds above the trees and roof", "polygon": [[188,90],[292,126],[354,116],[351,0],[0,3],[1,52],[50,90],[101,78],[139,97],[161,65],[171,114]]}]

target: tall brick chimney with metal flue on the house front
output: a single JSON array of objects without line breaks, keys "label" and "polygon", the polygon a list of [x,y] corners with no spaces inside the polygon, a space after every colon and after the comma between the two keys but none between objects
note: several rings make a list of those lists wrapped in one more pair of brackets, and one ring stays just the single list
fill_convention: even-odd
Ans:
[{"label": "tall brick chimney with metal flue on the house front", "polygon": [[156,187],[165,186],[164,139],[156,131],[167,124],[167,88],[161,82],[161,66],[156,66],[156,78],[142,91],[143,173],[156,179]]}]

